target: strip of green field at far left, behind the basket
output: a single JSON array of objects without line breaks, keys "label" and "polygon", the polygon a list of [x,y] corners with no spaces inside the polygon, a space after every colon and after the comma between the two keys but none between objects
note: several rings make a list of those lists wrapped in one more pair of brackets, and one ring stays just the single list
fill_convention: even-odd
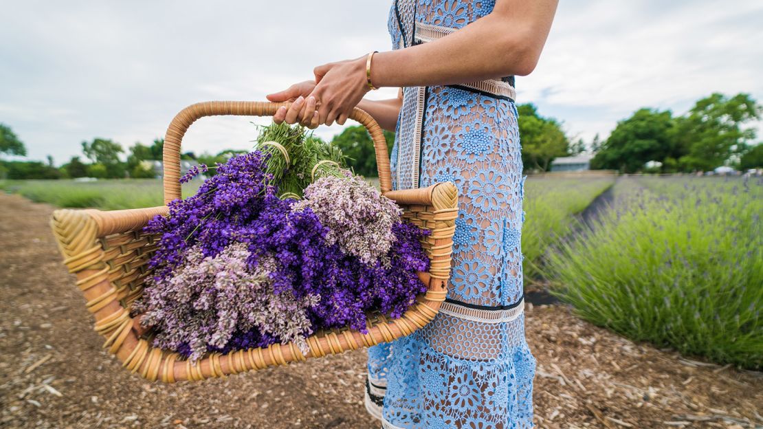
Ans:
[{"label": "strip of green field at far left, behind the basket", "polygon": [[[201,185],[194,180],[183,185],[183,195],[192,195]],[[97,182],[73,180],[0,181],[0,189],[34,202],[66,208],[120,210],[163,205],[162,181],[157,179],[114,179]]]}]

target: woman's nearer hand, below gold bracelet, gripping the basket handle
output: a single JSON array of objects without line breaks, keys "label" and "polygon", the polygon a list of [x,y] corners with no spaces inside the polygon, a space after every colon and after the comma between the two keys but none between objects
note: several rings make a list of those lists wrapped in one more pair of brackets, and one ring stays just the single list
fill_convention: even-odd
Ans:
[{"label": "woman's nearer hand, below gold bracelet, gripping the basket handle", "polygon": [[[317,66],[315,88],[310,96],[318,101],[318,122],[343,125],[353,108],[369,92],[365,78],[365,56]],[[309,99],[309,97],[308,97]]]}]

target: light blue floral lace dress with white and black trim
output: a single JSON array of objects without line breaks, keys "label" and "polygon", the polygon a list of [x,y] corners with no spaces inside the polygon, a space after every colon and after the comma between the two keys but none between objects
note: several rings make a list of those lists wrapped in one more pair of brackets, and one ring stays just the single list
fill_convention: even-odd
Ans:
[{"label": "light blue floral lace dress with white and black trim", "polygon": [[[394,49],[489,14],[494,0],[394,0]],[[416,333],[369,349],[365,405],[382,427],[533,427],[524,337],[523,182],[513,77],[410,87],[391,153],[395,189],[450,181],[459,217],[448,298]]]}]

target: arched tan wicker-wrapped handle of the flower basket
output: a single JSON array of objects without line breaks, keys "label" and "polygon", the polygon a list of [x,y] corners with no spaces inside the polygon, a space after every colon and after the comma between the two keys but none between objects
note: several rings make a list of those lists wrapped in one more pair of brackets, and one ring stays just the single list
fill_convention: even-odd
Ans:
[{"label": "arched tan wicker-wrapped handle of the flower basket", "polygon": [[[181,198],[180,191],[180,144],[185,131],[198,118],[204,116],[237,115],[237,116],[272,116],[281,106],[288,107],[291,103],[271,102],[201,102],[189,105],[175,115],[169,123],[167,134],[164,137],[163,164],[164,164],[164,203]],[[392,175],[389,167],[389,155],[387,153],[387,140],[381,132],[381,127],[365,111],[359,108],[353,110],[349,116],[353,121],[358,121],[371,134],[376,152],[376,166],[378,167],[379,186],[381,192],[392,189]]]}]

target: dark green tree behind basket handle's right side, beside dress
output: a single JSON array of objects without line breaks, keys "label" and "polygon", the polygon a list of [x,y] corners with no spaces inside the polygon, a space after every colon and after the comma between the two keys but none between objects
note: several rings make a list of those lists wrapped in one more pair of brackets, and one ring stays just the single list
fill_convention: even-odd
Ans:
[{"label": "dark green tree behind basket handle's right side, beside dress", "polygon": [[[394,144],[394,133],[384,131],[387,140],[387,150],[391,152]],[[366,177],[378,176],[376,167],[376,153],[373,140],[368,131],[362,125],[346,127],[340,134],[331,140],[348,158],[349,166],[353,167],[356,174]]]}]

